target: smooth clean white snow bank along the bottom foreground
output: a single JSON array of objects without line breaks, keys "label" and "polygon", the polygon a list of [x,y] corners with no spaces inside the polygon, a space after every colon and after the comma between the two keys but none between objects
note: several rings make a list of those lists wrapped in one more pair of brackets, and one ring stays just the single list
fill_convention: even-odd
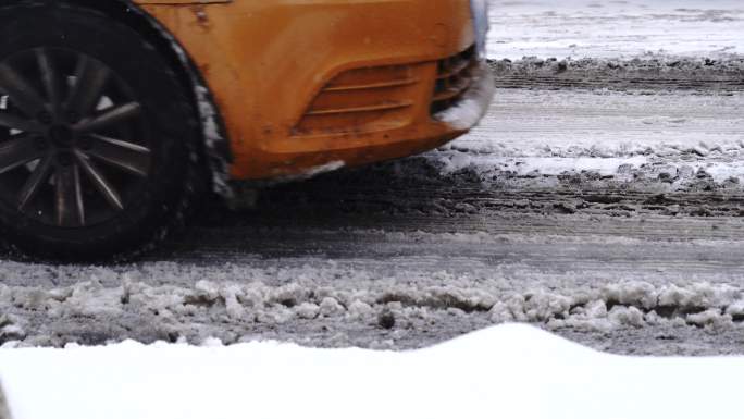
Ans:
[{"label": "smooth clean white snow bank along the bottom foreground", "polygon": [[410,353],[126,342],[0,350],[14,419],[702,418],[744,358],[624,358],[523,325]]}]

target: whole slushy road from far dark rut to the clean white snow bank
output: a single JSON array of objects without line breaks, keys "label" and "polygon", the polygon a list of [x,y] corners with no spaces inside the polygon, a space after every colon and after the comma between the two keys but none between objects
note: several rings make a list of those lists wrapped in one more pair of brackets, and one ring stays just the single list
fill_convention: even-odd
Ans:
[{"label": "whole slushy road from far dark rut to the clean white snow bank", "polygon": [[621,354],[744,353],[744,95],[497,98],[450,146],[274,188],[140,263],[4,262],[0,340],[413,348],[526,321]]}]

